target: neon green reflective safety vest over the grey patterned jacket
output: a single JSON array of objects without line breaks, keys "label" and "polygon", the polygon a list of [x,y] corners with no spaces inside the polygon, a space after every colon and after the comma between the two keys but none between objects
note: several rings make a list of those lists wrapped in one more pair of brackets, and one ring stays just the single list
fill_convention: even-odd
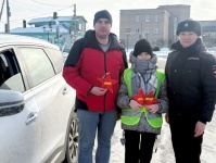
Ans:
[{"label": "neon green reflective safety vest over the grey patterned jacket", "polygon": [[[124,72],[124,79],[125,79],[125,83],[127,85],[128,96],[132,95],[131,74],[132,74],[131,68],[127,68]],[[165,79],[165,75],[164,75],[163,72],[157,70],[156,71],[156,77],[157,77],[157,87],[156,87],[156,92],[155,92],[155,96],[154,96],[155,98],[158,97],[160,88],[161,88],[162,83]],[[163,118],[162,117],[151,118],[150,117],[151,114],[149,114],[148,110],[144,106],[140,108],[136,112],[132,111],[132,109],[123,109],[122,116],[120,116],[122,123],[125,124],[125,125],[134,126],[134,125],[139,123],[142,113],[145,114],[147,121],[152,127],[154,127],[154,128],[162,127]]]}]

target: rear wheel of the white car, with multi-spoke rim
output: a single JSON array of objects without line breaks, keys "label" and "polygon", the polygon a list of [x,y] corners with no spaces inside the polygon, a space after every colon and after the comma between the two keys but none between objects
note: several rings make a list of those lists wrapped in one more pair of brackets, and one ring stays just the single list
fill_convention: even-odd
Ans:
[{"label": "rear wheel of the white car, with multi-spoke rim", "polygon": [[66,143],[66,161],[67,163],[77,163],[78,162],[78,117],[76,114],[73,115],[69,122],[69,130],[67,134],[67,143]]}]

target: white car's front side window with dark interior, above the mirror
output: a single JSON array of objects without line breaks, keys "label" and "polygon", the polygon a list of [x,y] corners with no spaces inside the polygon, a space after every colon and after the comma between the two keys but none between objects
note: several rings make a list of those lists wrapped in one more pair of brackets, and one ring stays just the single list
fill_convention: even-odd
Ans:
[{"label": "white car's front side window with dark interior, above the mirror", "polygon": [[0,89],[25,91],[23,76],[12,49],[0,51]]}]

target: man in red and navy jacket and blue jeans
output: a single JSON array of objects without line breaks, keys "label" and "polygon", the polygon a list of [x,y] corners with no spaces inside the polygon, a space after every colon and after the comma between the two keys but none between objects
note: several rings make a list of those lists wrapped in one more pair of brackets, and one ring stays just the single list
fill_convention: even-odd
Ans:
[{"label": "man in red and navy jacket and blue jeans", "polygon": [[127,60],[116,35],[110,33],[112,16],[106,10],[94,14],[93,27],[94,30],[88,30],[84,38],[73,45],[63,77],[76,89],[78,162],[92,163],[98,134],[96,162],[109,163],[111,137],[117,120],[119,77],[127,67]]}]

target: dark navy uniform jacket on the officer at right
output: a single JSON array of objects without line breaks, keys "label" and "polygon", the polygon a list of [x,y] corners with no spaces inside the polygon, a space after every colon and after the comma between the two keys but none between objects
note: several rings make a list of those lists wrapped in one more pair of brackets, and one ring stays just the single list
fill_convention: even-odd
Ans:
[{"label": "dark navy uniform jacket on the officer at right", "polygon": [[169,118],[206,123],[212,120],[216,99],[216,59],[205,52],[200,38],[190,47],[171,46],[165,74]]}]

